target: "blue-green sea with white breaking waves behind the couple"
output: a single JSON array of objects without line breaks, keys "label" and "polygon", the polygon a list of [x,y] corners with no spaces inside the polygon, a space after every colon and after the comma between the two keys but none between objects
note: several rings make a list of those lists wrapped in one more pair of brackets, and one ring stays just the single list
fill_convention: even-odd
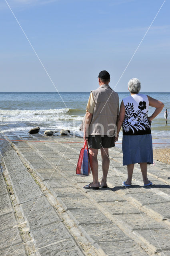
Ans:
[{"label": "blue-green sea with white breaking waves behind the couple", "polygon": [[[153,147],[170,147],[170,92],[141,92],[164,103],[162,112],[152,121]],[[71,131],[73,136],[83,136],[79,131],[90,92],[1,92],[0,132],[27,131],[33,126],[40,130]],[[118,92],[120,103],[129,92]],[[169,116],[166,125],[164,112]],[[149,107],[149,116],[154,108]],[[120,132],[119,143],[122,142]],[[163,144],[158,144],[163,143]],[[117,144],[117,146],[121,146]]]}]

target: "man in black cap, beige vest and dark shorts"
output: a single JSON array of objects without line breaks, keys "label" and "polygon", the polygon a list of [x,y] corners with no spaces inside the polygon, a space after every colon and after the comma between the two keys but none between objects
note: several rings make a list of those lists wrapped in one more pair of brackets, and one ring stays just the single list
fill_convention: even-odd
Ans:
[{"label": "man in black cap, beige vest and dark shorts", "polygon": [[[84,140],[88,140],[90,166],[93,182],[84,186],[86,189],[97,190],[107,188],[107,174],[109,169],[108,148],[114,147],[116,120],[119,111],[118,94],[108,85],[110,74],[103,70],[98,75],[99,88],[91,91],[86,107],[84,124]],[[102,156],[102,180],[98,181],[98,150]]]}]

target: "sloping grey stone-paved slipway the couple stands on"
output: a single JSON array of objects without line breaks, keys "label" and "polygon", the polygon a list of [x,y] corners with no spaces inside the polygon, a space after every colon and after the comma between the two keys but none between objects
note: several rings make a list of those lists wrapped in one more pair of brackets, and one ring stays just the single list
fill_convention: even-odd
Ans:
[{"label": "sloping grey stone-paved slipway the couple stands on", "polygon": [[84,190],[92,175],[75,174],[82,138],[6,132],[0,139],[0,256],[170,256],[168,164],[148,167],[148,187],[136,164],[126,189],[122,152],[112,148],[108,188]]}]

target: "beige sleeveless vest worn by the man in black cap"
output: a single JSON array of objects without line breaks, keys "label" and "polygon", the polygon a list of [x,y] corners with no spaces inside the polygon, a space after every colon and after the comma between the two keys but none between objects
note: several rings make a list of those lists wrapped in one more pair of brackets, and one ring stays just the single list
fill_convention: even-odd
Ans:
[{"label": "beige sleeveless vest worn by the man in black cap", "polygon": [[116,132],[116,120],[119,114],[119,97],[109,85],[102,84],[92,91],[95,106],[89,135],[113,136]]}]

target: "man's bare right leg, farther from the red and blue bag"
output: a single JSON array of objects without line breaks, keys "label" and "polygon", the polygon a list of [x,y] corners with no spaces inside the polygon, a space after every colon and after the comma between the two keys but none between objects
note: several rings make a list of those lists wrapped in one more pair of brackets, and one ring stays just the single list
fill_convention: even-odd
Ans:
[{"label": "man's bare right leg, farther from the red and blue bag", "polygon": [[103,176],[100,184],[102,186],[107,186],[107,175],[108,175],[109,164],[110,164],[109,152],[108,152],[108,148],[101,148],[100,150],[101,150],[101,156],[102,156],[102,171],[103,171]]}]

